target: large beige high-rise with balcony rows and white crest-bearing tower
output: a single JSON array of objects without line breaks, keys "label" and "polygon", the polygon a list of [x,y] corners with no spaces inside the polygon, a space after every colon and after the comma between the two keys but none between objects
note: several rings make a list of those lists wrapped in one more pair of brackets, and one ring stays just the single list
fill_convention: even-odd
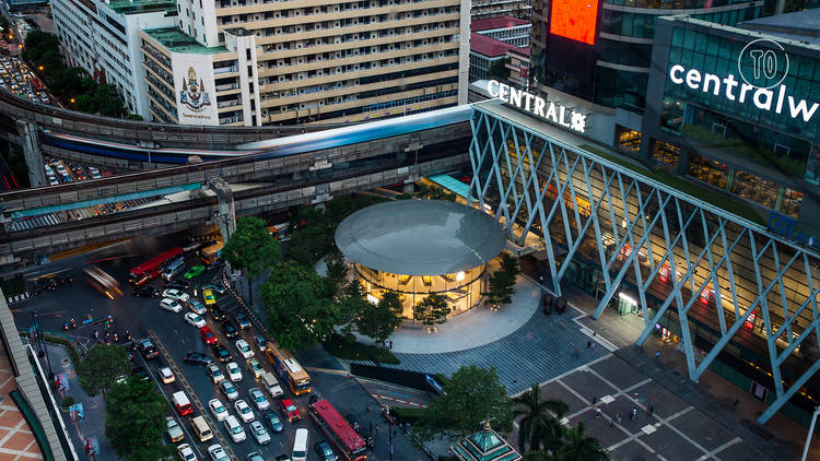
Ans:
[{"label": "large beige high-rise with balcony rows and white crest-bearing tower", "polygon": [[140,33],[157,120],[341,123],[467,102],[460,0],[179,0],[177,13]]}]

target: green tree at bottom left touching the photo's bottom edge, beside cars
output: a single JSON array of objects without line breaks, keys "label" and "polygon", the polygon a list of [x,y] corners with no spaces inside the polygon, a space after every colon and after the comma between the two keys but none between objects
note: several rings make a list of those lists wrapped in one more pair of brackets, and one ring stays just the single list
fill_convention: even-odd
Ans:
[{"label": "green tree at bottom left touching the photo's bottom edge, beside cars", "polygon": [[165,459],[175,451],[163,441],[167,412],[165,398],[154,390],[153,381],[132,376],[105,395],[105,436],[126,461]]}]

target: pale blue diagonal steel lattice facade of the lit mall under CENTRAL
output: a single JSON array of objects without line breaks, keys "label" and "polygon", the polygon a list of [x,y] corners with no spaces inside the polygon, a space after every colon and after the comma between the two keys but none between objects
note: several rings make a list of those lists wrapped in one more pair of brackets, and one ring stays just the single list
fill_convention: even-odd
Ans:
[{"label": "pale blue diagonal steel lattice facade of the lit mall under CENTRAL", "polygon": [[[693,381],[728,344],[757,346],[776,397],[761,424],[820,369],[817,253],[480,105],[471,126],[468,201],[492,206],[516,244],[540,237],[558,295],[583,261],[600,271],[595,318],[637,293],[637,345],[677,315]],[[693,324],[711,332],[708,345],[695,346]]]}]

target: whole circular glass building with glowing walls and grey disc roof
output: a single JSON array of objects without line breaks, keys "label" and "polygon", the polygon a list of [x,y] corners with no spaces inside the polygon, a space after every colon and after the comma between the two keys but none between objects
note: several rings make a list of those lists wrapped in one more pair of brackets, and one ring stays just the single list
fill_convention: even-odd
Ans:
[{"label": "whole circular glass building with glowing walls and grey disc roof", "polygon": [[478,209],[438,200],[379,203],[348,216],[336,245],[353,261],[371,302],[399,294],[403,317],[431,293],[448,298],[453,315],[481,300],[488,261],[506,236]]}]

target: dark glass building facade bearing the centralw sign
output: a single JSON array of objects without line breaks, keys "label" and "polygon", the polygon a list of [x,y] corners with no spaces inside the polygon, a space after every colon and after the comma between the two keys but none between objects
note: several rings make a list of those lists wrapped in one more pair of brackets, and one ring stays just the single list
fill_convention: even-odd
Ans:
[{"label": "dark glass building facade bearing the centralw sign", "polygon": [[[760,32],[777,24],[785,35]],[[658,19],[643,155],[820,228],[820,11],[740,27]]]}]

